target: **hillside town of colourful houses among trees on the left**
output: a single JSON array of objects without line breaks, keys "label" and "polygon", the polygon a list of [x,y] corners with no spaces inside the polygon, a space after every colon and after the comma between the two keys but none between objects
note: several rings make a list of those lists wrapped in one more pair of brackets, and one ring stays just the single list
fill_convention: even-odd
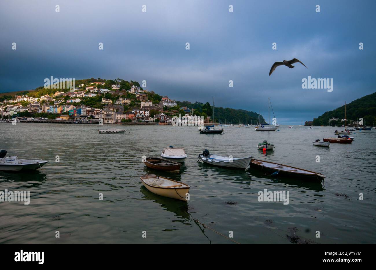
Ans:
[{"label": "hillside town of colourful houses among trees on the left", "polygon": [[[167,125],[172,124],[174,115],[191,115],[190,108],[179,108],[175,100],[167,96],[161,97],[140,86],[132,85],[126,90],[120,89],[120,85],[112,85],[112,89],[104,89],[103,85],[104,82],[91,82],[67,89],[67,92],[59,89],[55,93],[40,97],[33,97],[35,95],[28,93],[8,97],[0,102],[1,121],[11,121],[16,118],[17,121],[50,119],[95,123],[101,119],[103,124]],[[96,105],[90,106],[89,103]],[[209,121],[209,117],[206,120]]]}]

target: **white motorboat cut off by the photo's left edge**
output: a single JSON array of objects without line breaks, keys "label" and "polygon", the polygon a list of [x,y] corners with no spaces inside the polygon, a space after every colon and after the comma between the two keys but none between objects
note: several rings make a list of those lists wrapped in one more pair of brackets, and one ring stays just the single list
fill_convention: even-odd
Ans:
[{"label": "white motorboat cut off by the photo's left edge", "polygon": [[6,153],[5,150],[0,151],[1,171],[36,170],[48,162],[38,158],[20,159],[18,156],[6,156]]}]

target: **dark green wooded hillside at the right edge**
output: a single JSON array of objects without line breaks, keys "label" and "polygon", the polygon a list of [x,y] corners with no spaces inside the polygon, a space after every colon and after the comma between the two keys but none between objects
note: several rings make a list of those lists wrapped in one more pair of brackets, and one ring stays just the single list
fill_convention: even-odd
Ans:
[{"label": "dark green wooded hillside at the right edge", "polygon": [[[346,104],[347,123],[350,121],[357,121],[358,118],[363,118],[364,125],[371,126],[376,122],[376,93],[356,99],[349,104]],[[333,126],[341,126],[343,122],[341,119],[345,118],[345,106],[341,106],[333,111],[325,112],[313,121],[314,126],[327,126],[329,119],[339,118],[338,121],[332,121]]]}]

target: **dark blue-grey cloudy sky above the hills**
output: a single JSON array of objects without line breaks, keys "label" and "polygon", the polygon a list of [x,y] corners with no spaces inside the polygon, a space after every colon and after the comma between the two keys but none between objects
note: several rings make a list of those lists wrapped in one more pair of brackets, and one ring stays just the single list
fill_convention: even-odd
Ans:
[{"label": "dark blue-grey cloudy sky above the hills", "polygon": [[[2,1],[0,92],[50,76],[147,80],[172,99],[214,96],[216,106],[264,116],[270,97],[279,123],[300,124],[376,91],[375,10],[373,0]],[[308,69],[268,76],[275,61],[293,58]],[[333,78],[333,91],[302,89],[308,76]]]}]

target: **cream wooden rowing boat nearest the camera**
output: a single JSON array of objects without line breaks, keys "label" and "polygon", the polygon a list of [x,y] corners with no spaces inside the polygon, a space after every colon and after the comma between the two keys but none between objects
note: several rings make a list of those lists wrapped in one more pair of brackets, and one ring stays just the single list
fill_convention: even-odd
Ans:
[{"label": "cream wooden rowing boat nearest the camera", "polygon": [[150,192],[186,202],[190,189],[187,184],[155,174],[145,174],[140,179]]}]

